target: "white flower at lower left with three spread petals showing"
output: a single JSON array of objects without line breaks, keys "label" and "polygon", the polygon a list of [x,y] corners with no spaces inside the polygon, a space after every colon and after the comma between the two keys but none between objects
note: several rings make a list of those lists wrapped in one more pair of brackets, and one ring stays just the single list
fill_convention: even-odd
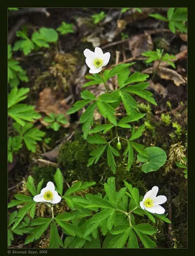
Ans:
[{"label": "white flower at lower left with three spread petals showing", "polygon": [[58,195],[57,191],[55,191],[54,183],[49,181],[47,186],[41,189],[40,195],[36,195],[33,197],[35,202],[47,202],[51,204],[57,204],[61,202],[61,196]]}]

